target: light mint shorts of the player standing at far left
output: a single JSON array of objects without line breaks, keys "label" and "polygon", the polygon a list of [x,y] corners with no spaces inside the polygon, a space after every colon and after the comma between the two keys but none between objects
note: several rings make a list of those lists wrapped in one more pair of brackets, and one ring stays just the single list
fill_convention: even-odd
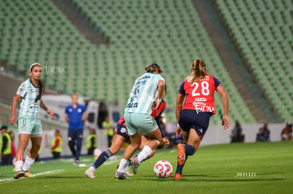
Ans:
[{"label": "light mint shorts of the player standing at far left", "polygon": [[30,134],[31,138],[42,137],[42,123],[39,118],[18,119],[18,134]]}]

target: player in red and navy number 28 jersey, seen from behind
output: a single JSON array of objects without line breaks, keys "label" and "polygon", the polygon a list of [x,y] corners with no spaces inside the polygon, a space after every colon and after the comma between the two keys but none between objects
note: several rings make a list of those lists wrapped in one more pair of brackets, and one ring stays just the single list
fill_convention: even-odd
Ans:
[{"label": "player in red and navy number 28 jersey, seen from behind", "polygon": [[[183,166],[189,155],[195,154],[209,126],[209,118],[216,113],[214,91],[222,96],[224,130],[229,127],[228,96],[222,84],[207,74],[204,61],[195,59],[191,75],[181,83],[176,99],[176,138],[183,135],[183,144],[178,144],[177,169],[174,180],[180,180]],[[185,99],[186,97],[186,99]],[[185,99],[185,103],[183,104]]]}]

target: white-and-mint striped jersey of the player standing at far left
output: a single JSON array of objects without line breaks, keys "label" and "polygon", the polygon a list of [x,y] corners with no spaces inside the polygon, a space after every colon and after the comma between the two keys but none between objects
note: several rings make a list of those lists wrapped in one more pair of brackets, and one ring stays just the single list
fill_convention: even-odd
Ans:
[{"label": "white-and-mint striped jersey of the player standing at far left", "polygon": [[30,79],[21,83],[16,94],[21,96],[19,116],[40,118],[40,100],[35,102],[39,94],[39,87],[33,85]]}]

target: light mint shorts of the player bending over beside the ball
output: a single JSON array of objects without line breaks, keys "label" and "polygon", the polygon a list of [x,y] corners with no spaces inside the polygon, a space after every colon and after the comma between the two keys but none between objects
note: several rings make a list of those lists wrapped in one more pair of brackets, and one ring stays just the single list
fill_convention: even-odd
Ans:
[{"label": "light mint shorts of the player bending over beside the ball", "polygon": [[124,119],[129,135],[134,135],[137,132],[146,135],[158,128],[154,117],[148,114],[125,112]]}]

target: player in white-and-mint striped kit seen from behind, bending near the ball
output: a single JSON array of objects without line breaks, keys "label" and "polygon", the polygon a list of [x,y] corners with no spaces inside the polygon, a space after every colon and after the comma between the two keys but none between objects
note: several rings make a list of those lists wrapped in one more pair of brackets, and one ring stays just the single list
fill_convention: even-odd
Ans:
[{"label": "player in white-and-mint striped kit seen from behind, bending near the ball", "polygon": [[135,81],[130,97],[125,107],[125,124],[130,135],[130,146],[125,150],[120,161],[115,178],[129,179],[125,174],[125,168],[142,142],[142,135],[149,137],[149,142],[144,145],[142,152],[134,157],[132,170],[137,174],[139,164],[158,147],[161,142],[161,132],[151,116],[152,109],[157,109],[161,104],[165,92],[165,80],[160,75],[163,70],[156,63],[151,63],[144,68],[146,73]]}]

